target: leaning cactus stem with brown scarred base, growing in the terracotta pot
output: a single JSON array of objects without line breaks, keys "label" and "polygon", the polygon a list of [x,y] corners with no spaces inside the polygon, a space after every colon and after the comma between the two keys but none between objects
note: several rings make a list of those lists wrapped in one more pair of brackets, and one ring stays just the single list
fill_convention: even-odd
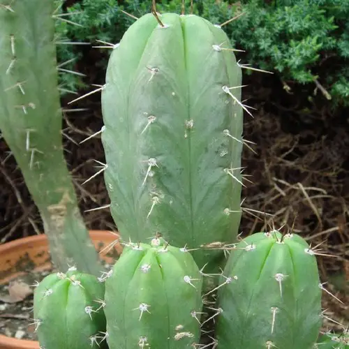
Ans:
[{"label": "leaning cactus stem with brown scarred base, growing in the terracotta pot", "polygon": [[101,265],[64,160],[55,4],[0,0],[0,128],[40,211],[54,264],[97,274]]}]

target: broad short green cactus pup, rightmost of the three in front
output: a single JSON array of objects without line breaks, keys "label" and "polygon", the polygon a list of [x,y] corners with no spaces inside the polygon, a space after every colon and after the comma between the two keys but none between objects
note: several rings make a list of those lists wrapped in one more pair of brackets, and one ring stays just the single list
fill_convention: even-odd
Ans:
[{"label": "broad short green cactus pup, rightmost of the three in front", "polygon": [[218,349],[311,349],[322,324],[317,250],[258,232],[235,246],[218,286]]}]

